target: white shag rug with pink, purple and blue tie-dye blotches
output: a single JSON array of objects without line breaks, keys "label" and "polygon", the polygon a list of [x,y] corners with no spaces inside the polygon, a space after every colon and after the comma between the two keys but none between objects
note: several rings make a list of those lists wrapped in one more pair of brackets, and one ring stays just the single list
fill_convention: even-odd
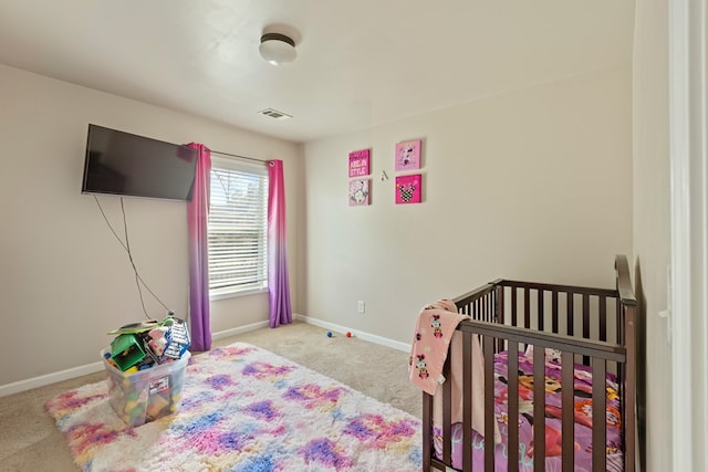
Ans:
[{"label": "white shag rug with pink, purple and blue tie-dye blotches", "polygon": [[256,346],[192,356],[173,415],[133,428],[108,382],[45,405],[84,471],[419,471],[416,417]]}]

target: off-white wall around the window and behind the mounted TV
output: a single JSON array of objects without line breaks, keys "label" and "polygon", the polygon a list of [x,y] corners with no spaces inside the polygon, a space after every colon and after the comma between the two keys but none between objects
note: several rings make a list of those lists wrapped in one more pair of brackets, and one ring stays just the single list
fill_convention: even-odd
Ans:
[{"label": "off-white wall around the window and behind the mounted TV", "polygon": [[[135,279],[92,196],[81,195],[88,123],[170,143],[284,162],[288,243],[296,273],[302,178],[299,145],[0,66],[0,387],[98,360],[105,333],[145,318]],[[123,234],[119,199],[98,198]],[[186,203],[125,198],[143,279],[187,316]],[[298,283],[291,281],[293,307]],[[144,292],[150,317],[164,308]],[[212,329],[268,319],[268,295],[212,304]]]}]

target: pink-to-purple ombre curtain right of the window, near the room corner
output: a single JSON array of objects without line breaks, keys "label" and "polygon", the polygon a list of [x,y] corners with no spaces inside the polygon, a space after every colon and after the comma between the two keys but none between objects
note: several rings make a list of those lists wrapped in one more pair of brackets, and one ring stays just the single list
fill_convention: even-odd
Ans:
[{"label": "pink-to-purple ombre curtain right of the window, near the room corner", "polygon": [[292,323],[285,252],[285,186],[283,161],[268,161],[268,290],[270,327]]}]

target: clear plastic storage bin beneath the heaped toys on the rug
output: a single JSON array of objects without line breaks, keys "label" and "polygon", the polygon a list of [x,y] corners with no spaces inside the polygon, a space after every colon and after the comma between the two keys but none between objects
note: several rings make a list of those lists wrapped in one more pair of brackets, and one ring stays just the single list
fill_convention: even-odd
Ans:
[{"label": "clear plastic storage bin beneath the heaped toys on the rug", "polygon": [[126,424],[137,427],[177,411],[188,350],[179,359],[132,374],[121,371],[107,360],[110,357],[110,349],[101,352],[108,374],[111,406]]}]

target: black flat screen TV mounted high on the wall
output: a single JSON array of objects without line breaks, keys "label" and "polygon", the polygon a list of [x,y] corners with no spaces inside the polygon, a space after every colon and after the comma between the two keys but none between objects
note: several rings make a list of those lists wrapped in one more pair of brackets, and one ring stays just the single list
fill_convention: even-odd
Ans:
[{"label": "black flat screen TV mounted high on the wall", "polygon": [[88,125],[82,193],[191,200],[197,150]]}]

